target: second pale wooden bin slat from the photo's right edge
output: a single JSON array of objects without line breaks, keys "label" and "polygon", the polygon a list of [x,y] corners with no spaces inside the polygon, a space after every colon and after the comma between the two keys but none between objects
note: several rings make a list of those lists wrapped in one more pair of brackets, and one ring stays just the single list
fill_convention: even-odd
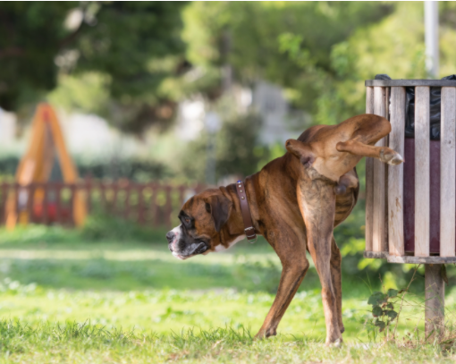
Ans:
[{"label": "second pale wooden bin slat from the photo's right edge", "polygon": [[[415,88],[415,256],[429,256],[429,88]],[[444,219],[444,216],[442,216]],[[454,220],[452,220],[454,224]]]}]

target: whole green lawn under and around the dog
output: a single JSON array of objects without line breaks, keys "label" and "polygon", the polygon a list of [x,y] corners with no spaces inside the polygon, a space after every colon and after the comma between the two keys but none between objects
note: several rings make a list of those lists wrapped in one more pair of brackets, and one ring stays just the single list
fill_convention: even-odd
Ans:
[{"label": "whole green lawn under and around the dog", "polygon": [[[317,274],[310,268],[277,337],[255,341],[280,264],[265,241],[184,262],[159,234],[97,238],[30,226],[0,230],[0,362],[445,362],[452,343],[422,344],[422,299],[408,301],[400,343],[364,330],[380,281],[343,275],[342,349],[325,348]],[[107,239],[107,240],[106,240]],[[162,239],[163,240],[163,239]],[[369,287],[369,280],[372,287]],[[364,282],[367,282],[365,284]],[[423,285],[423,282],[418,285]],[[389,287],[386,287],[389,288]],[[447,290],[447,317],[456,292]],[[413,302],[418,306],[414,306]],[[418,328],[418,332],[416,329]],[[422,337],[422,335],[421,335]]]}]

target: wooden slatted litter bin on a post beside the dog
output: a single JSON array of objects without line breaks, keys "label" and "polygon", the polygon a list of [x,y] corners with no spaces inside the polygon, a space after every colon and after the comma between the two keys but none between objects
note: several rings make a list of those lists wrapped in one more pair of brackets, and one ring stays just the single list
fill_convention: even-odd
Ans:
[{"label": "wooden slatted litter bin on a post beside the dog", "polygon": [[[365,258],[425,264],[425,333],[443,333],[444,264],[456,262],[456,80],[366,80],[366,113],[390,120],[377,146],[401,165],[366,161]],[[406,89],[415,91],[415,139],[405,139]],[[430,140],[430,88],[441,88],[441,140]]]}]

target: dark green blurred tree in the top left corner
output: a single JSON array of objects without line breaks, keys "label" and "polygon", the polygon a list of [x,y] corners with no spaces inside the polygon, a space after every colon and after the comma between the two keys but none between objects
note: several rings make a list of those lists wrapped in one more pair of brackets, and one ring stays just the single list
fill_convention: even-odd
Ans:
[{"label": "dark green blurred tree in the top left corner", "polygon": [[[0,106],[18,110],[55,88],[59,72],[99,72],[119,126],[140,131],[173,115],[159,91],[185,66],[180,11],[173,2],[0,4]],[[173,58],[174,57],[174,58]],[[113,105],[111,105],[113,108]]]}]

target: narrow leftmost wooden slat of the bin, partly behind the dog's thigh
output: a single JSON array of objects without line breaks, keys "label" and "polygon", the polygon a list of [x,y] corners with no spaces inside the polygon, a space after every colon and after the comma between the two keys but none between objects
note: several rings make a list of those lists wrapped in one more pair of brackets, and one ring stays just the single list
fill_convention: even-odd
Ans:
[{"label": "narrow leftmost wooden slat of the bin, partly behind the dog's thigh", "polygon": [[[366,114],[374,114],[374,88],[366,88]],[[366,158],[366,250],[372,251],[374,223],[374,159]]]}]

